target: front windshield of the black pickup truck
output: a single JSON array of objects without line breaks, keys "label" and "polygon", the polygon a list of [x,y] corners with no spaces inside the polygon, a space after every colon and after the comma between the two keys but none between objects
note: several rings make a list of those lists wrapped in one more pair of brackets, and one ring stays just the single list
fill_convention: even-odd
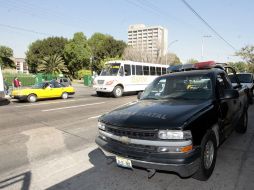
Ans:
[{"label": "front windshield of the black pickup truck", "polygon": [[208,74],[165,76],[154,80],[141,99],[210,99],[213,96],[212,80]]}]

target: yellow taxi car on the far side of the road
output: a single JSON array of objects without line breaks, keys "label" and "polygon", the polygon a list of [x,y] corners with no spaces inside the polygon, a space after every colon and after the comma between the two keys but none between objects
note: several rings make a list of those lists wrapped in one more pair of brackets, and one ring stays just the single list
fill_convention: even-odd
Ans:
[{"label": "yellow taxi car on the far side of the road", "polygon": [[13,99],[20,101],[36,102],[38,99],[63,98],[67,99],[69,95],[75,94],[75,89],[71,86],[63,86],[56,80],[42,82],[31,88],[15,89],[11,93]]}]

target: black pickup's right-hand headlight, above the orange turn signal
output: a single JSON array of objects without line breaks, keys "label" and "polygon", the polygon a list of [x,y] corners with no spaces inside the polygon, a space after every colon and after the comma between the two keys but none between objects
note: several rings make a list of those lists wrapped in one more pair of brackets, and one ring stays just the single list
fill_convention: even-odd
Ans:
[{"label": "black pickup's right-hand headlight, above the orange turn signal", "polygon": [[160,130],[158,132],[160,139],[191,139],[191,131],[178,131],[178,130]]}]

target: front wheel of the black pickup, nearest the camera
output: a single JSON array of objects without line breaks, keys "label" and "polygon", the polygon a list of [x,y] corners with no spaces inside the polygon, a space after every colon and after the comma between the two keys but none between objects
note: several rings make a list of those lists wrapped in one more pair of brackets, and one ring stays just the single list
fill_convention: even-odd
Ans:
[{"label": "front wheel of the black pickup, nearest the camera", "polygon": [[[209,147],[213,147],[210,152],[213,152],[213,156],[209,155]],[[217,158],[217,141],[213,131],[208,131],[201,142],[201,157],[200,166],[197,172],[192,176],[194,179],[200,181],[206,181],[212,175]],[[210,160],[210,161],[209,161]],[[207,161],[207,162],[206,162]]]}]

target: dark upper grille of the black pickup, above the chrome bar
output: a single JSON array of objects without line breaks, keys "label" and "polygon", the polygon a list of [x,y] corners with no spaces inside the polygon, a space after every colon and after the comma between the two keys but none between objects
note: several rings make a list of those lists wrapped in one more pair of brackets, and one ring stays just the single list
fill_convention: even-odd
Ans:
[{"label": "dark upper grille of the black pickup, above the chrome bar", "polygon": [[143,140],[154,140],[158,137],[158,130],[140,130],[131,128],[118,128],[110,125],[106,125],[106,131],[117,135],[126,136],[133,139],[143,139]]}]

